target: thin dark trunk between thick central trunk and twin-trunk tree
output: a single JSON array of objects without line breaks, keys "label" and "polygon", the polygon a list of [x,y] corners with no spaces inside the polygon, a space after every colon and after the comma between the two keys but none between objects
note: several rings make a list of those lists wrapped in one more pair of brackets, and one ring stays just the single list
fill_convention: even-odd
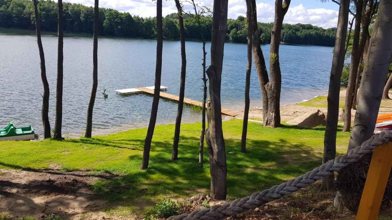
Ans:
[{"label": "thin dark trunk between thick central trunk and twin-trunk tree", "polygon": [[[250,5],[247,4],[247,11],[250,12]],[[248,17],[248,27],[250,26],[250,13],[247,13]],[[249,117],[249,90],[250,90],[250,72],[252,70],[252,31],[248,28],[248,64],[246,68],[246,77],[245,77],[245,110],[244,110],[244,119],[242,124],[242,138],[241,138],[241,152],[246,152],[246,136],[248,132],[248,117]]]}]

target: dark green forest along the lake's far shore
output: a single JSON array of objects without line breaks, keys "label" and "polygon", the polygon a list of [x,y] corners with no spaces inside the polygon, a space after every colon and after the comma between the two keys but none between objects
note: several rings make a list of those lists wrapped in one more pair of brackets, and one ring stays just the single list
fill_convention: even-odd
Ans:
[{"label": "dark green forest along the lake's far shore", "polygon": [[[173,3],[174,4],[174,3]],[[93,33],[94,9],[81,4],[64,2],[64,31],[69,33]],[[57,32],[57,3],[40,0],[38,10],[41,30]],[[147,38],[156,36],[156,18],[142,18],[114,9],[100,8],[99,34],[127,38]],[[202,31],[206,40],[211,40],[212,18],[201,18]],[[258,23],[260,42],[270,43],[273,23]],[[201,39],[197,22],[184,15],[187,39]],[[33,2],[30,0],[0,0],[0,27],[35,29]],[[227,21],[227,41],[246,43],[247,21],[243,16]],[[288,44],[334,46],[336,28],[323,29],[310,24],[283,24],[281,41]],[[177,14],[163,18],[163,37],[180,38]]]}]

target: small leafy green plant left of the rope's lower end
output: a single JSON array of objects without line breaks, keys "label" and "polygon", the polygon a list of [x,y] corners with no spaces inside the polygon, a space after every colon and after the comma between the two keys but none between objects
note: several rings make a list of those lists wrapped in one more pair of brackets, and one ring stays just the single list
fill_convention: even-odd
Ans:
[{"label": "small leafy green plant left of the rope's lower end", "polygon": [[147,210],[144,220],[151,220],[155,218],[168,218],[172,215],[177,215],[181,209],[181,205],[171,199],[165,199],[155,206]]}]

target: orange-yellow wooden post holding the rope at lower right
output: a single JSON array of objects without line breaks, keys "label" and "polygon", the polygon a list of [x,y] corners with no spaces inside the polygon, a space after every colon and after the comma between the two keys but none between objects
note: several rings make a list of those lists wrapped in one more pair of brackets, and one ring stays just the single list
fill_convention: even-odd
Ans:
[{"label": "orange-yellow wooden post holding the rope at lower right", "polygon": [[373,152],[356,220],[376,220],[392,168],[392,142]]}]

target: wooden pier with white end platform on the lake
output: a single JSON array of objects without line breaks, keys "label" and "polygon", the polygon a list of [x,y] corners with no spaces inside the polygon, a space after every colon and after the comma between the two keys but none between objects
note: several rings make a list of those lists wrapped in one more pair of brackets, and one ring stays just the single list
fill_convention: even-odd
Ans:
[{"label": "wooden pier with white end platform on the lake", "polygon": [[[162,87],[161,86],[161,90],[162,89],[166,89],[167,87]],[[144,93],[148,93],[148,94],[154,94],[154,87],[140,87],[140,88],[129,88],[129,89],[122,89],[122,90],[115,90],[116,92],[119,93],[134,93],[134,92],[144,92]],[[174,101],[179,101],[180,100],[180,96],[175,96],[166,92],[160,92],[159,94],[160,97],[164,98],[164,99],[170,99],[170,100],[174,100]],[[188,105],[194,105],[194,106],[203,106],[203,103],[201,101],[196,101],[193,99],[188,99],[188,98],[184,98],[184,103],[188,104]],[[231,110],[228,108],[221,108],[221,113],[223,115],[229,115],[232,117],[235,117],[239,114],[241,114],[241,112],[239,111],[235,111],[235,110]]]}]

